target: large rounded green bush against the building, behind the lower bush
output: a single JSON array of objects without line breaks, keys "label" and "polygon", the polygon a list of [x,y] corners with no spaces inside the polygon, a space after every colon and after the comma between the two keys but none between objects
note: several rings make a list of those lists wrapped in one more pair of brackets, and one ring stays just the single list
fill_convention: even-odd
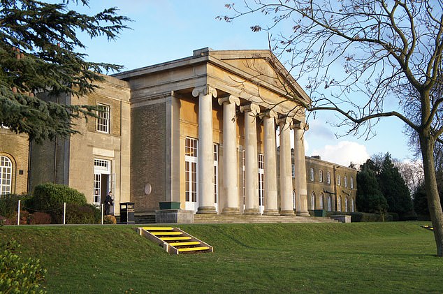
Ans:
[{"label": "large rounded green bush against the building, behind the lower bush", "polygon": [[34,210],[49,212],[63,208],[63,203],[86,205],[83,193],[61,184],[40,184],[34,189],[32,207]]}]

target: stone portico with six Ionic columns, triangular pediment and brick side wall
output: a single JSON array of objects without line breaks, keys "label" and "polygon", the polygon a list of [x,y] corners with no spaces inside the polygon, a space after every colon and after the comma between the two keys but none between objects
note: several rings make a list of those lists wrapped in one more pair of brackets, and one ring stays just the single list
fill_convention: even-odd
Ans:
[{"label": "stone portico with six Ionic columns, triangular pediment and brick side wall", "polygon": [[[138,175],[131,200],[139,211],[173,201],[197,214],[308,214],[298,157],[293,186],[291,132],[307,131],[300,103],[310,99],[268,50],[204,48],[116,76],[131,84],[133,140],[157,138],[131,152]],[[297,134],[294,152],[304,159]],[[141,189],[147,184],[149,195]]]}]

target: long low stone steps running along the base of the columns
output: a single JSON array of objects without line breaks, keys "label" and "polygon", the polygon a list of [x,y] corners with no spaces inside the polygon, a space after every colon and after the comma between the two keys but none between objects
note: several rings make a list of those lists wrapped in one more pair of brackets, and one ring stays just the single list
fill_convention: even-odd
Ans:
[{"label": "long low stone steps running along the base of the columns", "polygon": [[194,214],[194,223],[337,223],[337,221],[319,216]]}]

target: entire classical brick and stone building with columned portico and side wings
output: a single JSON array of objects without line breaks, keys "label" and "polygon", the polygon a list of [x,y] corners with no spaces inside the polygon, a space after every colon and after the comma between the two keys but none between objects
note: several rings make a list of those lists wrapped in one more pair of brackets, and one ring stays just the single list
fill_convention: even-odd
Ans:
[{"label": "entire classical brick and stone building with columned portico and side wings", "polygon": [[159,203],[208,214],[355,210],[356,171],[305,157],[302,105],[310,98],[268,50],[195,50],[57,100],[103,111],[76,122],[81,135],[31,144],[26,164],[0,143],[0,159],[20,159],[8,191],[55,182],[99,204],[112,190],[115,203],[133,202],[137,213]]}]

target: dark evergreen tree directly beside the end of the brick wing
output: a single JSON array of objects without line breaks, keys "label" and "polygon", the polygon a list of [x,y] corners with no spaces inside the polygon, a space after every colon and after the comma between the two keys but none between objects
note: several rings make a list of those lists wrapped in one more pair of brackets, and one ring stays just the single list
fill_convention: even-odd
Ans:
[{"label": "dark evergreen tree directly beside the end of the brick wing", "polygon": [[[385,214],[388,208],[386,199],[379,190],[379,184],[374,170],[371,169],[371,163],[366,161],[357,173],[357,198],[356,206],[360,212],[375,212]],[[368,163],[368,164],[367,164]]]}]

